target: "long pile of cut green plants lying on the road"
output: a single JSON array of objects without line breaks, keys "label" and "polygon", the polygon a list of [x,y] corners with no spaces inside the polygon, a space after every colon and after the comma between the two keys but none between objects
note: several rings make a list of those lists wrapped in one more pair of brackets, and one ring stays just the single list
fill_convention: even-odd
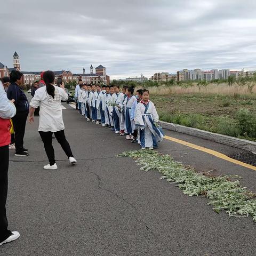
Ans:
[{"label": "long pile of cut green plants lying on the road", "polygon": [[209,173],[198,173],[193,168],[175,162],[169,155],[153,150],[126,151],[118,157],[132,157],[141,165],[140,170],[157,170],[161,179],[177,183],[188,196],[205,196],[209,205],[219,213],[225,210],[230,217],[249,217],[256,222],[255,194],[242,187],[237,175],[213,177]]}]

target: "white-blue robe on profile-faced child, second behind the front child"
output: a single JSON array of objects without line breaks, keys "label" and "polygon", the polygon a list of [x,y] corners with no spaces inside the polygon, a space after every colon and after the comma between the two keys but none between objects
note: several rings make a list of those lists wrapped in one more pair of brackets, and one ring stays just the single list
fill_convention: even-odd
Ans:
[{"label": "white-blue robe on profile-faced child, second behind the front child", "polygon": [[124,132],[132,134],[134,131],[134,122],[132,121],[132,105],[137,101],[134,95],[124,99]]}]

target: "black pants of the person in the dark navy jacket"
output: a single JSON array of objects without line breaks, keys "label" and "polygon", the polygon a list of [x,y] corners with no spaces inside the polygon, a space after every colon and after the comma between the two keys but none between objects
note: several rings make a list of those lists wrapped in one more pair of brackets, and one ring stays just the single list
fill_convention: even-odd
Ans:
[{"label": "black pants of the person in the dark navy jacket", "polygon": [[18,112],[13,118],[12,123],[14,127],[14,142],[15,142],[15,153],[23,151],[23,138],[25,134],[25,127],[27,122],[28,112]]}]

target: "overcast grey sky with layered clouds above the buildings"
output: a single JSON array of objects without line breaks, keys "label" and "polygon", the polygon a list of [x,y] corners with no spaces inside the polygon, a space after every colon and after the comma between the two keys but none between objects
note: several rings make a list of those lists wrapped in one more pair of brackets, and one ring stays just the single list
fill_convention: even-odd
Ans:
[{"label": "overcast grey sky with layered clouds above the buildings", "polygon": [[[2,3],[3,2],[3,3]],[[256,69],[256,1],[1,1],[0,62],[110,79],[183,68]]]}]

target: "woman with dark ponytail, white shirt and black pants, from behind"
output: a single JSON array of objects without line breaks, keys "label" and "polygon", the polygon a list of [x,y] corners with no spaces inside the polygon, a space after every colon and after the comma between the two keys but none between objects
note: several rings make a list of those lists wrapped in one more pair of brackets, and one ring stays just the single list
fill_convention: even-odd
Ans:
[{"label": "woman with dark ponytail, white shirt and black pants, from behind", "polygon": [[45,165],[44,169],[54,170],[58,169],[58,166],[55,162],[54,149],[52,146],[52,133],[54,133],[55,138],[65,151],[69,162],[75,164],[76,159],[72,154],[64,133],[65,127],[62,118],[61,100],[66,101],[68,99],[68,94],[64,90],[64,84],[60,84],[60,87],[55,86],[54,73],[50,70],[44,72],[43,79],[46,87],[37,89],[35,96],[30,102],[29,123],[34,122],[34,112],[39,106],[38,132],[44,142],[46,155],[49,159],[49,164]]}]

